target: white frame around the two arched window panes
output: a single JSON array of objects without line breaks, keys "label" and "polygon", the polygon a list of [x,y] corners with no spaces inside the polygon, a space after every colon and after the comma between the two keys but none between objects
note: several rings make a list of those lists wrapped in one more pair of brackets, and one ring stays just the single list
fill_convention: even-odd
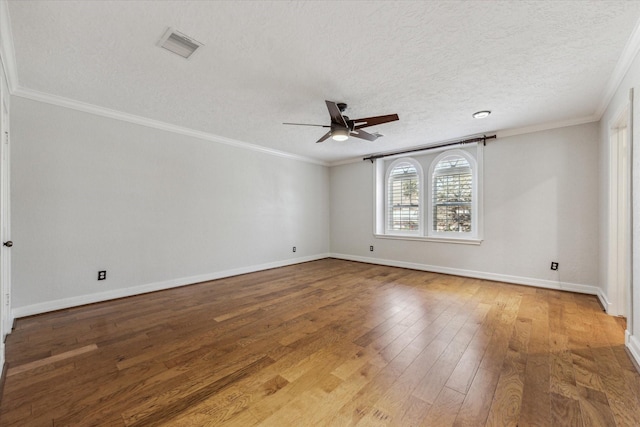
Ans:
[{"label": "white frame around the two arched window panes", "polygon": [[[475,151],[469,153],[467,150],[459,148],[441,149],[439,154],[434,158],[420,159],[420,155],[416,157],[394,156],[393,158],[376,159],[374,163],[374,237],[380,239],[396,239],[396,240],[415,240],[440,243],[458,243],[466,245],[480,245],[484,239],[483,236],[483,145],[474,144]],[[465,147],[472,147],[471,144]],[[430,154],[425,152],[425,154]],[[470,233],[459,232],[433,232],[433,169],[440,160],[452,154],[460,154],[467,161],[472,170],[473,192],[472,192],[472,225]],[[422,160],[422,161],[421,161]],[[387,212],[388,212],[388,178],[395,166],[399,163],[410,161],[416,165],[418,171],[419,188],[420,188],[420,226],[415,232],[401,232],[399,230],[388,230]],[[429,165],[428,181],[426,182],[423,175],[423,168]],[[426,198],[426,200],[425,200]],[[426,214],[425,214],[426,212]],[[475,215],[474,215],[475,213]]]}]

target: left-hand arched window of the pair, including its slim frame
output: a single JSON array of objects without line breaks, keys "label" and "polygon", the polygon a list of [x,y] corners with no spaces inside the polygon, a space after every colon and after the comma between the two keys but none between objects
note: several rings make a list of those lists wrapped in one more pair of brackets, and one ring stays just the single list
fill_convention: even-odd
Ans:
[{"label": "left-hand arched window of the pair, including its slim frame", "polygon": [[389,165],[385,209],[388,233],[420,233],[422,188],[422,168],[418,162],[403,158]]}]

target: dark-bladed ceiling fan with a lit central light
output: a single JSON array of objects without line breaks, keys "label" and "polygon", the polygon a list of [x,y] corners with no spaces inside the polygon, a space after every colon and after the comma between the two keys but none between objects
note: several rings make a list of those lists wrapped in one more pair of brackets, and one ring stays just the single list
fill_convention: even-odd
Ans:
[{"label": "dark-bladed ceiling fan with a lit central light", "polygon": [[283,123],[285,125],[297,125],[297,126],[318,126],[323,128],[330,128],[329,132],[325,133],[322,138],[316,142],[322,142],[329,137],[336,141],[345,141],[350,136],[354,136],[360,139],[366,139],[367,141],[375,141],[382,135],[379,133],[369,133],[362,130],[369,126],[375,126],[382,123],[393,122],[399,120],[397,114],[389,114],[386,116],[365,117],[363,119],[351,120],[349,117],[343,115],[344,110],[347,109],[347,104],[343,102],[324,101],[329,109],[329,115],[331,116],[330,125],[313,125],[306,123]]}]

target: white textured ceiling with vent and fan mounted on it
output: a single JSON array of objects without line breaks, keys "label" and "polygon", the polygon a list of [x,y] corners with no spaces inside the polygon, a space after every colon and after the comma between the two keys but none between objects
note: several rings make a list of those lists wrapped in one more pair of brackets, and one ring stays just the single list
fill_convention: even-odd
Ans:
[{"label": "white textured ceiling with vent and fan mounted on it", "polygon": [[[640,1],[8,5],[19,89],[326,162],[597,118],[640,17]],[[205,46],[157,47],[168,27]],[[400,120],[375,142],[282,125],[328,124],[325,99]]]}]

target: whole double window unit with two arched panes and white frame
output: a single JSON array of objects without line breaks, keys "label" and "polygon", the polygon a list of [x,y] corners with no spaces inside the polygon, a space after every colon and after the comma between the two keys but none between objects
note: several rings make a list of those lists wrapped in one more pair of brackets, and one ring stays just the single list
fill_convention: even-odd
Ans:
[{"label": "whole double window unit with two arched panes and white frame", "polygon": [[374,236],[481,244],[482,159],[482,145],[377,159]]}]

